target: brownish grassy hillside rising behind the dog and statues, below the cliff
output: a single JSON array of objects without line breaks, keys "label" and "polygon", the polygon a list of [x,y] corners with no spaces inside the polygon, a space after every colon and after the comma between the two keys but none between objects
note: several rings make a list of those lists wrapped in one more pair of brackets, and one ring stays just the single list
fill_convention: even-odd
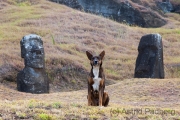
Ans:
[{"label": "brownish grassy hillside rising behind the dog and statues, below the cliff", "polygon": [[17,73],[24,67],[19,42],[30,33],[42,36],[46,71],[55,91],[86,87],[90,70],[86,50],[97,54],[105,50],[103,65],[108,84],[133,78],[139,40],[149,33],[159,33],[163,37],[165,77],[180,76],[179,14],[167,13],[167,25],[146,29],[129,27],[44,0],[4,0],[0,16],[1,82],[16,81]]}]

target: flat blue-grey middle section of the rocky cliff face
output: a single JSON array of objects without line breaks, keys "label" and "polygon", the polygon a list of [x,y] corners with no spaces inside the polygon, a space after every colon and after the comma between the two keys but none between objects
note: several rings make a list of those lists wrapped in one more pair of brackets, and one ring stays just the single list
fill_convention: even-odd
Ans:
[{"label": "flat blue-grey middle section of the rocky cliff face", "polygon": [[145,27],[146,23],[139,11],[129,2],[117,3],[113,0],[78,0],[86,12],[102,15],[118,22]]}]

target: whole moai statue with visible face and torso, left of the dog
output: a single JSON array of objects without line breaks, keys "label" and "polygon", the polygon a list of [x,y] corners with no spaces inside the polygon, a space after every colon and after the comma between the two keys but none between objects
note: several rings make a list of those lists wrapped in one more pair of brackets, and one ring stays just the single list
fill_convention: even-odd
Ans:
[{"label": "whole moai statue with visible face and torso, left of the dog", "polygon": [[49,93],[49,79],[45,72],[41,37],[35,34],[26,35],[20,44],[25,68],[17,75],[18,91],[36,94]]}]

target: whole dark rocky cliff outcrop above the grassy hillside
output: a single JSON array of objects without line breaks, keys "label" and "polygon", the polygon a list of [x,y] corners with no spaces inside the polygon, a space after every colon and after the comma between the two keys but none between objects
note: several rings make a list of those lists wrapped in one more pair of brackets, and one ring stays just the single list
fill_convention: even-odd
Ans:
[{"label": "whole dark rocky cliff outcrop above the grassy hillside", "polygon": [[[169,0],[154,1],[154,8],[138,0],[51,0],[85,12],[102,15],[117,22],[140,27],[161,27],[166,24],[162,13],[174,11]],[[152,1],[150,1],[152,2]]]}]

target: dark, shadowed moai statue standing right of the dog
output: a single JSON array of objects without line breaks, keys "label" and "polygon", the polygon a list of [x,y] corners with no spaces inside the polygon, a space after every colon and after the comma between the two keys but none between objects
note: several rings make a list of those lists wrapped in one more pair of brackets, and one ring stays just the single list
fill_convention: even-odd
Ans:
[{"label": "dark, shadowed moai statue standing right of the dog", "polygon": [[141,38],[136,59],[135,78],[164,78],[163,45],[159,34]]}]

